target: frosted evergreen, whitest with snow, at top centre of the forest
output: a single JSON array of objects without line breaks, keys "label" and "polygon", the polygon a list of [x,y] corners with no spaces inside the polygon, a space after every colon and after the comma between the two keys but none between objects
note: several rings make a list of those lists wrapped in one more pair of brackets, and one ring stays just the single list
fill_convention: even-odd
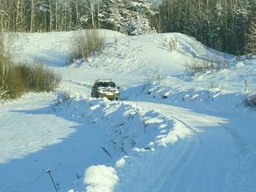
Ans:
[{"label": "frosted evergreen, whitest with snow, at top centre of the forest", "polygon": [[99,22],[106,29],[140,35],[152,32],[151,15],[152,5],[145,0],[103,0]]}]

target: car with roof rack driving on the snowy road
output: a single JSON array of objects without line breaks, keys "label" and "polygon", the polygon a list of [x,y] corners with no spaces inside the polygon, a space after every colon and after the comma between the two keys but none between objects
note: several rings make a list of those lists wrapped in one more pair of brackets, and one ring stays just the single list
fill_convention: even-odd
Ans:
[{"label": "car with roof rack driving on the snowy road", "polygon": [[108,98],[109,100],[119,100],[119,87],[112,80],[99,79],[92,86],[92,98]]}]

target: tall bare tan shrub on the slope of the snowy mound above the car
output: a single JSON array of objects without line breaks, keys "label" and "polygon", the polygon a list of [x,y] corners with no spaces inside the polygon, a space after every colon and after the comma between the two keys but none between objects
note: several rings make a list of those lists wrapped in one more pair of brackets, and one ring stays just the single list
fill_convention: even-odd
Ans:
[{"label": "tall bare tan shrub on the slope of the snowy mound above the car", "polygon": [[75,33],[73,46],[72,59],[88,59],[92,54],[102,53],[106,47],[106,39],[96,29],[86,30]]}]

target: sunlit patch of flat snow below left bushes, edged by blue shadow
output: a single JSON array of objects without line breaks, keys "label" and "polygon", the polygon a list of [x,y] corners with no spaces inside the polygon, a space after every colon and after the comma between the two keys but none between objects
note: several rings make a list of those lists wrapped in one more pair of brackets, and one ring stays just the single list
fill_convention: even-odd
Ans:
[{"label": "sunlit patch of flat snow below left bushes, edged by blue shadow", "polygon": [[[2,106],[0,163],[21,159],[30,153],[47,149],[74,132],[74,129],[70,128],[75,125],[74,123],[56,118],[55,115],[47,114],[47,111],[43,110],[52,101],[52,95],[45,95],[44,99],[35,96],[28,95],[20,102]],[[42,110],[37,111],[37,108]],[[46,119],[55,124],[49,127]]]}]

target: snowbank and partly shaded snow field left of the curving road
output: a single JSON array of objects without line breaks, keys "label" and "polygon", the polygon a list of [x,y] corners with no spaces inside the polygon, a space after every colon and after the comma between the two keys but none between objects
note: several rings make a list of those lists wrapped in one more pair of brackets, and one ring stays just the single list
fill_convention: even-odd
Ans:
[{"label": "snowbank and partly shaded snow field left of the curving road", "polygon": [[[13,124],[5,119],[12,133],[2,129],[6,134],[1,141],[1,170],[5,174],[1,191],[51,190],[47,169],[61,191],[71,186],[84,190],[82,180],[88,191],[112,191],[119,181],[117,171],[126,161],[133,162],[157,146],[167,146],[192,133],[161,113],[137,108],[135,103],[60,98],[50,104],[54,98],[43,95],[44,99],[30,101],[33,96],[19,101],[20,107],[16,103],[3,106],[3,114],[15,119]],[[13,177],[20,174],[22,177]]]}]

